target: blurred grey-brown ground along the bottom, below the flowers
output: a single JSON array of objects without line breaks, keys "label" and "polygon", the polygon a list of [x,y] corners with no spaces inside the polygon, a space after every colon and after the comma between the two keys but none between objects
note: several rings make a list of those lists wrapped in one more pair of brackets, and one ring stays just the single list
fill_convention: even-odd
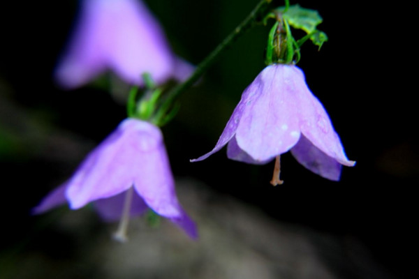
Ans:
[{"label": "blurred grey-brown ground along the bottom, below the flowers", "polygon": [[101,223],[91,208],[58,209],[39,217],[50,225],[26,248],[0,254],[0,278],[392,278],[353,237],[279,223],[192,179],[179,179],[177,190],[198,241],[166,219],[151,227],[135,218],[128,242],[117,243],[117,224]]}]

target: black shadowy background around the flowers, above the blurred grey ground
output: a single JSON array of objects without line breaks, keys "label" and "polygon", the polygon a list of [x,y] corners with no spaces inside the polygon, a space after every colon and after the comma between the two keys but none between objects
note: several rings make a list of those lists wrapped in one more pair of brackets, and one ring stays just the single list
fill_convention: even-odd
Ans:
[{"label": "black shadowy background around the flowers, above the blurred grey ground", "polygon": [[[1,249],[22,244],[37,224],[30,209],[125,117],[124,104],[98,86],[62,91],[54,85],[52,70],[75,20],[75,1],[9,2],[1,4],[6,6],[0,22]],[[147,1],[173,50],[194,64],[256,2]],[[240,94],[263,69],[269,28],[258,26],[184,94],[179,114],[163,127],[172,170],[258,206],[280,222],[354,236],[389,273],[405,278],[413,268],[408,252],[416,242],[413,188],[419,152],[409,97],[414,89],[408,85],[413,73],[396,59],[392,10],[374,2],[358,8],[345,1],[298,3],[319,11],[324,20],[319,29],[330,39],[320,52],[304,45],[298,66],[357,165],[344,167],[341,181],[332,182],[285,154],[285,183],[274,188],[268,183],[273,163],[237,163],[224,149],[189,163],[213,148]]]}]

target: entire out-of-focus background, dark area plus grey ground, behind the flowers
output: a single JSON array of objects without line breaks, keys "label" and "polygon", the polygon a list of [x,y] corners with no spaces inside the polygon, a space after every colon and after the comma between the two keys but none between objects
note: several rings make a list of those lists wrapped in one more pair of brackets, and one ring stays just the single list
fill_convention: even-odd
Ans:
[{"label": "entire out-of-focus background, dark area plus grey ground, behind the flowers", "polygon": [[[194,64],[257,3],[145,2],[173,50]],[[409,276],[417,118],[413,89],[405,83],[409,72],[391,64],[393,11],[371,1],[358,8],[346,1],[298,3],[319,11],[319,29],[330,38],[321,52],[304,45],[298,66],[357,165],[344,167],[341,181],[332,182],[285,154],[285,183],[272,187],[273,163],[237,163],[225,150],[189,163],[213,148],[242,91],[264,67],[269,28],[255,27],[184,94],[179,114],[163,127],[179,199],[200,239],[190,241],[167,220],[156,228],[138,218],[124,245],[110,239],[116,224],[101,223],[89,208],[43,216],[30,216],[30,210],[124,119],[126,91],[54,85],[52,71],[77,1],[2,3],[0,278]]]}]

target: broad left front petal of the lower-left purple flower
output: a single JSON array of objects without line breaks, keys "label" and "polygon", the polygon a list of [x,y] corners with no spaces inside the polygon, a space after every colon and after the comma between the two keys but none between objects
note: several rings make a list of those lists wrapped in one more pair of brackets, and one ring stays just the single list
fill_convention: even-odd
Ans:
[{"label": "broad left front petal of the lower-left purple flower", "polygon": [[72,209],[79,209],[96,199],[112,197],[128,190],[135,177],[147,180],[138,161],[148,163],[161,137],[150,123],[126,119],[92,151],[72,179],[68,181],[67,198]]}]

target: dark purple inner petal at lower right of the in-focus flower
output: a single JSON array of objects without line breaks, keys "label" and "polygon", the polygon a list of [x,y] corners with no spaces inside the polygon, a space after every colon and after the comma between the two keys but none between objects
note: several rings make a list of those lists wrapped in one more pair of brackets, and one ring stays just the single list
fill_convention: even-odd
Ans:
[{"label": "dark purple inner petal at lower right of the in-focus flower", "polygon": [[291,149],[291,153],[298,163],[311,170],[311,172],[326,179],[339,181],[342,165],[335,158],[329,157],[311,144],[304,135]]}]

